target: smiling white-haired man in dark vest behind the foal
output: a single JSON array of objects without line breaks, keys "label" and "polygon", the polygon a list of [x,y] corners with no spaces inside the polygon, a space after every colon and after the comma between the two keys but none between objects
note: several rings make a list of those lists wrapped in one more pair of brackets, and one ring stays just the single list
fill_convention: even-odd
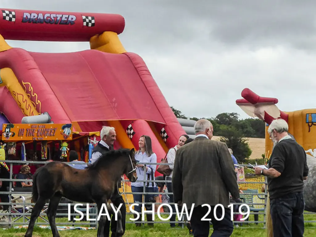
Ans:
[{"label": "smiling white-haired man in dark vest behind the foal", "polygon": [[[98,144],[92,150],[91,163],[94,163],[102,155],[105,155],[108,151],[114,149],[113,144],[114,144],[114,141],[116,140],[115,128],[103,126],[102,130],[100,131],[100,137],[101,137],[101,141],[98,142]],[[119,186],[119,188],[121,187],[121,181],[118,182],[118,186]],[[117,186],[114,189],[114,193],[111,197],[111,201],[116,207],[119,207],[119,205],[122,203],[120,211],[122,213],[122,225],[123,225],[123,231],[125,233],[126,206],[125,206],[125,202],[124,202],[123,197],[121,195],[119,195],[119,191],[118,191]],[[115,221],[115,216],[112,216],[111,222],[108,221],[106,218],[105,227],[104,227],[104,236],[105,237],[108,237],[110,234],[110,223],[111,223],[111,231],[112,231],[111,236],[112,237],[116,236],[117,223]]]}]

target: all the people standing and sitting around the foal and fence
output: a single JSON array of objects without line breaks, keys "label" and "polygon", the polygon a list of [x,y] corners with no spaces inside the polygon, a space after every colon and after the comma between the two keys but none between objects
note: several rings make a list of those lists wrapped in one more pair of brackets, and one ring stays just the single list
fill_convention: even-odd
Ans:
[{"label": "all the people standing and sitting around the foal and fence", "polygon": [[[155,177],[157,165],[157,155],[152,150],[151,138],[143,135],[139,138],[139,149],[135,153],[137,160],[138,182],[131,183],[131,190],[134,193],[135,203],[156,203],[160,202],[159,194],[166,190],[172,194],[162,195],[168,197],[168,202],[175,204],[185,203],[187,207],[194,204],[190,220],[190,230],[194,236],[209,236],[210,222],[202,221],[202,217],[211,218],[213,225],[212,236],[230,236],[234,226],[231,220],[230,203],[240,204],[240,191],[235,167],[237,159],[233,155],[232,149],[229,149],[223,142],[212,140],[213,125],[207,119],[200,119],[194,125],[196,137],[189,138],[187,135],[179,137],[178,144],[168,150],[165,159],[171,172],[168,175]],[[269,126],[268,133],[274,148],[269,160],[268,169],[255,167],[257,175],[264,175],[268,180],[268,191],[270,194],[270,213],[273,223],[273,236],[303,236],[304,233],[304,198],[303,198],[303,180],[307,179],[308,167],[306,153],[304,149],[288,134],[288,124],[283,119],[275,119]],[[116,140],[115,128],[104,126],[100,131],[100,142],[92,151],[91,162],[97,161],[100,156],[113,149],[113,143]],[[87,164],[78,161],[76,151],[70,151],[69,154],[71,166],[84,169]],[[140,163],[149,163],[143,165]],[[1,172],[6,169],[3,164],[0,166]],[[17,175],[18,179],[27,179],[29,177],[29,167],[21,166],[21,171]],[[121,206],[122,224],[125,232],[126,207],[123,197],[119,194],[118,188],[121,182],[115,187],[112,195],[112,203]],[[1,183],[1,189],[4,187]],[[31,187],[32,182],[17,182],[17,187]],[[136,192],[145,192],[145,200],[142,194]],[[1,199],[5,199],[3,195]],[[218,204],[224,207],[224,210],[217,208],[216,216],[222,216],[221,221],[214,218],[214,211],[209,212],[208,207],[203,204],[209,204],[211,210]],[[172,215],[170,226],[176,227],[175,207],[172,206]],[[152,210],[152,205],[145,205],[146,210]],[[142,220],[141,206],[135,206],[135,211],[139,212],[139,218]],[[222,213],[222,211],[224,211]],[[190,212],[190,210],[189,210]],[[137,215],[134,215],[137,218]],[[152,216],[146,216],[147,221],[151,222]],[[149,223],[153,226],[153,223]],[[141,226],[136,223],[136,226]],[[114,216],[112,220],[106,220],[104,235],[109,236],[110,230],[112,236],[115,236],[116,222]]]}]

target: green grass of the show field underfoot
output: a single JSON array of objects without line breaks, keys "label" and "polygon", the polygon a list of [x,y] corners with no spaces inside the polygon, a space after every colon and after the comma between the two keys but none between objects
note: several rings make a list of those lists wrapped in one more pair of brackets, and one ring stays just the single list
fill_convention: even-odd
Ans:
[{"label": "green grass of the show field underfoot", "polygon": [[[162,215],[163,216],[163,215]],[[129,221],[130,216],[127,216]],[[311,221],[316,220],[316,215],[305,215],[305,220]],[[249,221],[253,221],[253,216],[249,217]],[[263,221],[263,215],[259,215],[259,221]],[[68,222],[67,218],[57,218],[57,222]],[[86,227],[89,227],[88,225]],[[26,229],[0,229],[0,236],[11,237],[11,236],[24,236]],[[212,229],[210,229],[210,234]],[[97,234],[96,230],[63,230],[59,231],[61,237],[72,237],[72,236],[81,236],[81,237],[94,237]],[[48,237],[52,236],[50,229],[42,229],[39,227],[34,228],[33,237]],[[126,237],[182,237],[188,236],[188,229],[185,228],[170,228],[168,223],[155,224],[154,227],[147,227],[147,224],[143,227],[135,227],[135,224],[127,223],[126,224]],[[235,227],[234,232],[231,235],[232,237],[243,236],[243,237],[264,237],[265,229],[263,229],[263,224],[259,223],[244,225],[243,227]],[[316,236],[316,223],[306,223],[305,224],[305,237]]]}]

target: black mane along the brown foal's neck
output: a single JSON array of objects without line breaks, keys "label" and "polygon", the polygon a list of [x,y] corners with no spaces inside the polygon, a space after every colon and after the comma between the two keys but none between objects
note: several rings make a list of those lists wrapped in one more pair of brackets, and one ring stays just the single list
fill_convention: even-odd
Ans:
[{"label": "black mane along the brown foal's neck", "polygon": [[97,161],[93,164],[88,165],[86,169],[97,169],[100,167],[105,167],[111,164],[116,158],[123,156],[123,155],[130,155],[130,149],[121,148],[118,150],[110,150],[105,155],[101,155]]}]

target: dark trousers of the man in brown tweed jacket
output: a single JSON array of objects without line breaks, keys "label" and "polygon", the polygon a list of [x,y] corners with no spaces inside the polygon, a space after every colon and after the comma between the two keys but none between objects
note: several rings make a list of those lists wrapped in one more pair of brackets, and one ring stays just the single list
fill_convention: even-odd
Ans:
[{"label": "dark trousers of the man in brown tweed jacket", "polygon": [[[205,216],[209,212],[207,206],[197,206],[193,208],[191,216],[191,227],[193,230],[194,237],[208,237],[210,234],[210,221],[201,221],[204,217],[205,219],[211,219],[213,223],[214,231],[211,234],[212,237],[228,237],[233,233],[234,225],[230,218],[230,209],[225,208],[224,218],[221,221],[217,221],[214,217],[214,207],[211,206],[211,211],[208,216]],[[189,213],[191,210],[189,210]],[[217,219],[222,217],[222,208],[216,208]]]}]

